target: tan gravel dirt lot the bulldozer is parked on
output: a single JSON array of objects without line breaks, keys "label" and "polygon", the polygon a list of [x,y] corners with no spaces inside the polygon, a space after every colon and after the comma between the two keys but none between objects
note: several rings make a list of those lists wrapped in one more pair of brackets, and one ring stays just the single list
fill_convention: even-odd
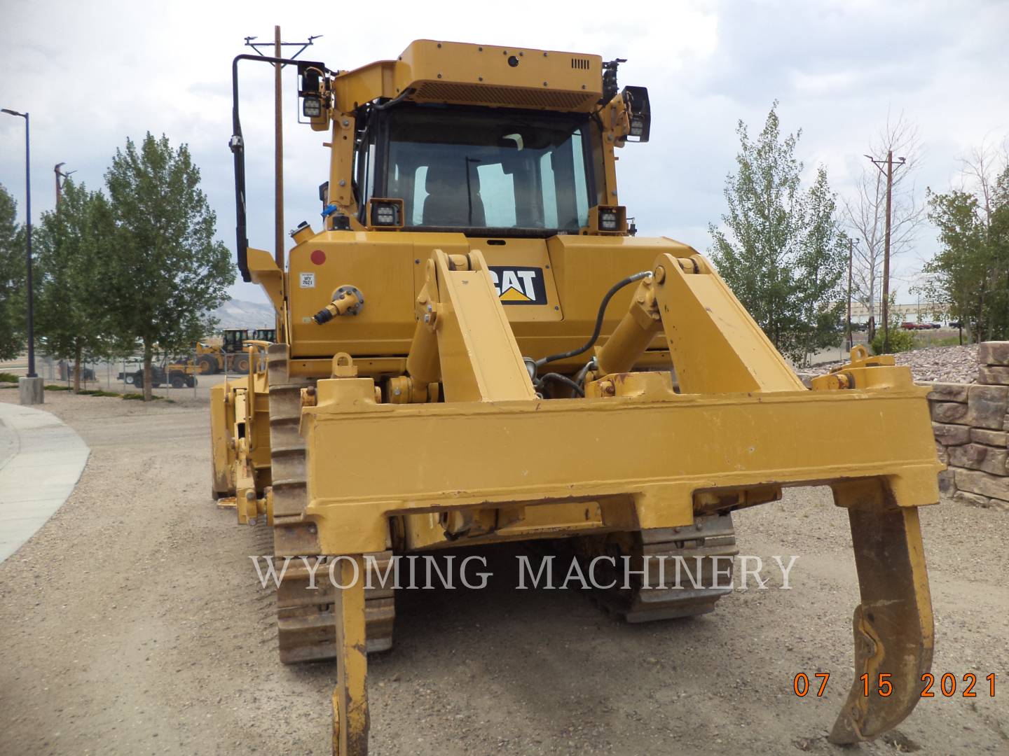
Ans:
[{"label": "tan gravel dirt lot the bulldozer is parked on", "polygon": [[[93,454],[0,564],[0,752],[328,753],[334,670],[276,660],[248,558],[269,533],[209,497],[206,404],[45,408]],[[845,513],[793,491],[737,515],[744,553],[800,556],[792,590],[738,591],[700,619],[625,626],[576,591],[514,591],[517,548],[489,552],[485,591],[402,592],[396,648],[369,666],[372,752],[1007,753],[1009,516],[944,504],[922,520],[933,670],[995,672],[994,699],[937,696],[875,744],[825,741],[858,590]],[[826,695],[796,698],[795,673],[817,670]]]}]

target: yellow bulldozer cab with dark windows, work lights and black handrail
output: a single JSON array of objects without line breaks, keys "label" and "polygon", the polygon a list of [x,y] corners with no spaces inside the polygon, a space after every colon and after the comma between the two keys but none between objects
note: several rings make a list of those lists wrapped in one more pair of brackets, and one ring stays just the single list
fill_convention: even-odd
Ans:
[{"label": "yellow bulldozer cab with dark windows, work lights and black handrail", "polygon": [[[329,180],[320,187],[323,233],[541,240],[633,233],[619,204],[613,150],[648,141],[651,110],[646,88],[618,88],[620,58],[431,39],[352,71],[238,55],[230,141],[238,268],[243,280],[266,287],[278,311],[292,295],[281,283],[283,261],[274,269],[253,250],[255,270],[249,265],[238,110],[243,59],[295,65],[302,116],[331,133]],[[316,232],[305,222],[292,235],[304,244]],[[304,288],[313,288],[310,280]],[[293,314],[296,323],[306,317]]]}]

